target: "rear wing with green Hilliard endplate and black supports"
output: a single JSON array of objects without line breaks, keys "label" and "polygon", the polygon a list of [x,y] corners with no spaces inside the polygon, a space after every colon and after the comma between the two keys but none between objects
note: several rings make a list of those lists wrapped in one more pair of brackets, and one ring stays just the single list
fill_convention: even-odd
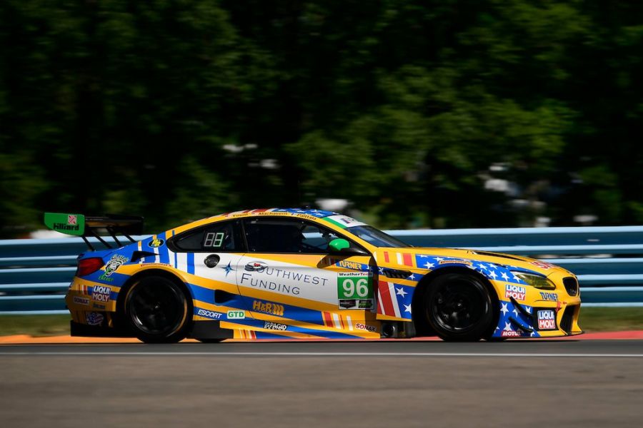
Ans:
[{"label": "rear wing with green Hilliard endplate and black supports", "polygon": [[51,230],[66,233],[67,235],[80,236],[90,250],[94,251],[88,236],[94,236],[107,248],[112,246],[98,234],[99,230],[106,230],[116,245],[121,247],[116,234],[119,233],[132,243],[136,242],[131,235],[143,233],[143,218],[135,215],[109,214],[104,217],[89,217],[82,214],[45,213],[44,223]]}]

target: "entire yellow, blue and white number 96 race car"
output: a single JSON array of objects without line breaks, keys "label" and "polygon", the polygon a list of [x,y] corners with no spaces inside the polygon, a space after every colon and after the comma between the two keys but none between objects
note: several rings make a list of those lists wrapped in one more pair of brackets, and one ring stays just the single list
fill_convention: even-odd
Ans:
[{"label": "entire yellow, blue and white number 96 race car", "polygon": [[[416,248],[347,215],[214,215],[139,241],[142,218],[46,213],[84,238],[66,294],[71,335],[143,342],[477,341],[579,335],[571,272],[517,255]],[[109,248],[107,230],[119,248]],[[121,245],[116,234],[131,243]],[[95,250],[94,235],[108,248]]]}]

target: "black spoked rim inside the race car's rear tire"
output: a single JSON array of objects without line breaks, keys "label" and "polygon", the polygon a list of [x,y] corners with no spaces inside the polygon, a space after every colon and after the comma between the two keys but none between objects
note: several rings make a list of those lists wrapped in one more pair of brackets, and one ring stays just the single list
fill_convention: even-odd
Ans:
[{"label": "black spoked rim inside the race car's rear tire", "polygon": [[131,290],[129,314],[141,332],[168,335],[183,322],[184,297],[173,284],[140,282]]}]

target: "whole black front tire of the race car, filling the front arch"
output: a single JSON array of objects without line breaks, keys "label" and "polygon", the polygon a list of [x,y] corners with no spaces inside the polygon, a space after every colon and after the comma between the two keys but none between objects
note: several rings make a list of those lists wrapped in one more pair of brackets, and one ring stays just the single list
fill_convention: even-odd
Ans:
[{"label": "whole black front tire of the race car, filling the front arch", "polygon": [[422,302],[425,320],[442,340],[474,342],[492,329],[492,295],[474,275],[440,275],[424,291]]}]

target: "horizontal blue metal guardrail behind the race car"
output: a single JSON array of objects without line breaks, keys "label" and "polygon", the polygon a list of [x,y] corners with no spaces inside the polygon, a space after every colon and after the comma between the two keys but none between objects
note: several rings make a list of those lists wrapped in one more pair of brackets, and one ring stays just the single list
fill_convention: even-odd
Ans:
[{"label": "horizontal blue metal guardrail behind the race car", "polygon": [[[578,275],[584,306],[643,307],[643,226],[388,233],[419,247],[540,258]],[[134,237],[141,238],[145,237]],[[64,294],[76,270],[76,255],[85,250],[80,238],[0,240],[0,315],[67,313]]]}]

